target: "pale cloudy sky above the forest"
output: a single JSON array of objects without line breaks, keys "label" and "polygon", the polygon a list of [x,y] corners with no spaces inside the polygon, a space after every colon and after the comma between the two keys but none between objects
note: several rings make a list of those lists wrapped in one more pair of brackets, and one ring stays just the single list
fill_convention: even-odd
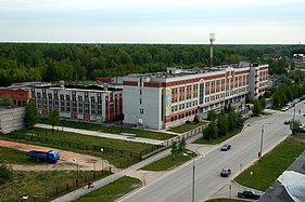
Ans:
[{"label": "pale cloudy sky above the forest", "polygon": [[0,42],[304,44],[304,0],[0,0]]}]

